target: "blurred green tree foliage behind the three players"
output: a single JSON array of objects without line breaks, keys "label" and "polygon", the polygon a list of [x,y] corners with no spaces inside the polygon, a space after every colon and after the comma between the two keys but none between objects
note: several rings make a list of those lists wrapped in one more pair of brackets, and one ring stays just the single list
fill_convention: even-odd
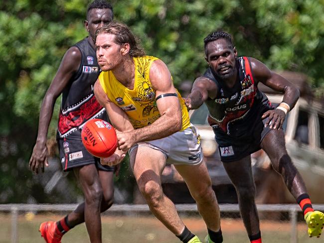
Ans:
[{"label": "blurred green tree foliage behind the three players", "polygon": [[[47,202],[28,170],[39,107],[65,51],[87,35],[88,0],[3,0],[0,5],[0,203]],[[324,89],[324,0],[112,0],[176,86],[206,68],[203,38],[230,32],[239,55],[273,69],[299,71]],[[57,111],[49,136],[55,134]],[[130,188],[123,168],[117,184]],[[131,190],[131,189],[130,189]]]}]

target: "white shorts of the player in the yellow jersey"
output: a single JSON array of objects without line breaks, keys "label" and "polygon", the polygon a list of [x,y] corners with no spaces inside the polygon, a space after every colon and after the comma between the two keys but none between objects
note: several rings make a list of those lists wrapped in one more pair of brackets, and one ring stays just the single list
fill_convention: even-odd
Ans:
[{"label": "white shorts of the player in the yellow jersey", "polygon": [[191,123],[183,131],[175,132],[167,137],[139,142],[130,148],[129,154],[138,146],[148,146],[161,151],[168,164],[196,165],[203,158],[198,129]]}]

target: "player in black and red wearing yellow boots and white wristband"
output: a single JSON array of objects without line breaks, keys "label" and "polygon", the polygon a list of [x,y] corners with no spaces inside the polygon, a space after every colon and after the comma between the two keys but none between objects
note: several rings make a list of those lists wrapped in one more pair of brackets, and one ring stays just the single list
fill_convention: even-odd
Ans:
[{"label": "player in black and red wearing yellow boots and white wristband", "polygon": [[[299,98],[299,90],[262,62],[237,57],[228,33],[209,34],[204,39],[204,49],[209,68],[194,81],[185,102],[189,109],[197,109],[203,102],[208,107],[208,122],[214,130],[221,161],[236,188],[251,243],[261,243],[261,233],[250,155],[261,148],[302,208],[309,235],[320,237],[324,214],[312,207],[304,181],[287,154],[282,129],[286,114]],[[258,90],[259,82],[284,94],[276,109]]]}]

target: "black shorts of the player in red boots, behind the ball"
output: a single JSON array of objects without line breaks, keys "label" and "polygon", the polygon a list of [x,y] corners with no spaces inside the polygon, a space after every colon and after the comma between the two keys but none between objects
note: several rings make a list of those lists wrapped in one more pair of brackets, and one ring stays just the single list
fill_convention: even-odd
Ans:
[{"label": "black shorts of the player in red boots, behind the ball", "polygon": [[83,146],[81,135],[68,135],[67,137],[57,137],[58,150],[63,171],[69,171],[75,167],[88,164],[95,164],[98,170],[114,171],[114,167],[102,165],[100,158],[90,154]]}]

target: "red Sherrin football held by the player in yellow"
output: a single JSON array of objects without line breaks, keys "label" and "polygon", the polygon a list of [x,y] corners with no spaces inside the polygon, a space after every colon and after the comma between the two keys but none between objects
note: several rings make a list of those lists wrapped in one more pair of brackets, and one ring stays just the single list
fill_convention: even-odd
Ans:
[{"label": "red Sherrin football held by the player in yellow", "polygon": [[115,128],[101,119],[86,122],[81,131],[82,142],[93,156],[106,158],[117,148]]}]

